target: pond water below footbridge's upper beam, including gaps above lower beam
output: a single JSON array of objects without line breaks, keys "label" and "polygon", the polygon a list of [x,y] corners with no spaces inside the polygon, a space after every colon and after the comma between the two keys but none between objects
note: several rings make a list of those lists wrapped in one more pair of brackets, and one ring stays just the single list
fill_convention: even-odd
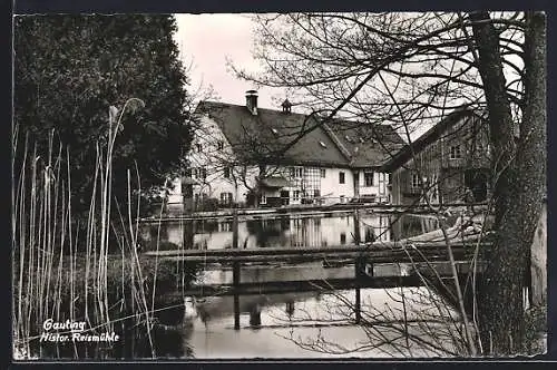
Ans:
[{"label": "pond water below footbridge's upper beam, including gaps above lower beam", "polygon": [[[374,275],[403,275],[404,266],[377,265]],[[325,269],[320,264],[245,266],[243,282],[323,282],[353,275],[353,267]],[[202,271],[196,284],[229,283],[226,269]],[[458,315],[439,304],[442,298],[424,288],[360,289],[360,324],[354,322],[356,290],[332,289],[307,292],[246,294],[238,296],[240,330],[234,328],[234,295],[182,295],[172,292],[167,309],[155,314],[150,335],[143,325],[123,321],[114,327],[120,335],[110,351],[95,343],[62,344],[61,352],[41,343],[41,358],[111,359],[302,359],[389,358],[446,356],[436,348],[440,338],[451,337]],[[402,299],[404,304],[402,304]],[[174,302],[174,303],[173,303]],[[176,304],[178,303],[178,304]],[[117,318],[114,318],[117,319]],[[407,322],[407,324],[404,324]],[[408,341],[403,333],[408,333]],[[389,339],[385,342],[385,339]],[[431,345],[424,344],[430,342]],[[453,350],[453,341],[442,348]],[[58,351],[58,352],[57,352]]]}]

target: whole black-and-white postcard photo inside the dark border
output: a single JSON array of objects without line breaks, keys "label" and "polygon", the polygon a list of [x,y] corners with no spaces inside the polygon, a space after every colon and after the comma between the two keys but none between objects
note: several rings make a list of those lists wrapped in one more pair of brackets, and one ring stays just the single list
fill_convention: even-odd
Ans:
[{"label": "whole black-and-white postcard photo inside the dark border", "polygon": [[13,360],[535,356],[541,11],[13,17]]}]

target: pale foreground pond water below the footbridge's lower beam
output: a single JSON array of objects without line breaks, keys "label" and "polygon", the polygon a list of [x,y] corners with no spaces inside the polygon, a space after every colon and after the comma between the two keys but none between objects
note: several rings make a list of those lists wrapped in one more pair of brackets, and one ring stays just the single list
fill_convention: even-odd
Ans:
[{"label": "pale foreground pond water below the footbridge's lower beam", "polygon": [[[233,325],[233,296],[186,298],[182,323],[157,339],[156,351],[165,358],[196,359],[446,354],[423,342],[436,343],[452,325],[449,315],[456,314],[439,312],[427,303],[429,291],[394,288],[362,289],[360,293],[368,325],[354,324],[350,304],[354,291],[338,290],[241,296],[240,330]],[[407,328],[401,323],[401,296],[407,302]],[[440,320],[443,315],[444,321]],[[439,330],[433,329],[436,325]],[[410,330],[409,342],[400,335],[404,330]],[[383,343],[384,338],[392,342]],[[450,351],[452,344],[448,343]]]}]

